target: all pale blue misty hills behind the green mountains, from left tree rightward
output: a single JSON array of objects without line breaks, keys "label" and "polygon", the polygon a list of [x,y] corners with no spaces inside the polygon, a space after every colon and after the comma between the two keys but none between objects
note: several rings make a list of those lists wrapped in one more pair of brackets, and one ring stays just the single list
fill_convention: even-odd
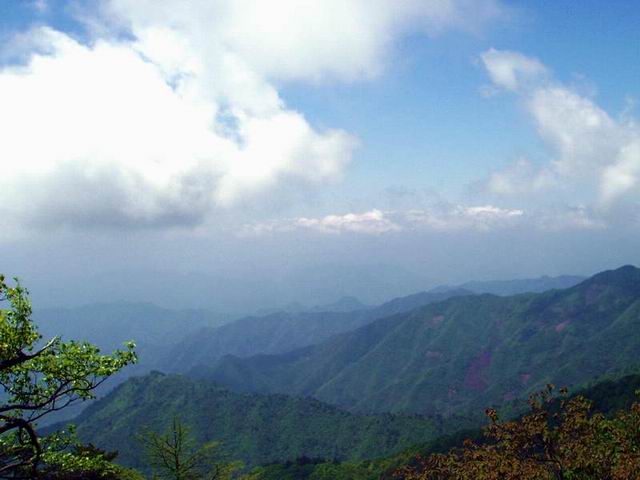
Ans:
[{"label": "all pale blue misty hills behind the green mountains, from left tree rightward", "polygon": [[[521,292],[575,283],[580,277],[468,282],[469,289],[438,287],[379,306],[368,306],[355,297],[315,307],[290,304],[285,310],[233,320],[231,315],[202,309],[174,310],[142,302],[97,303],[75,308],[36,310],[34,319],[45,337],[87,340],[110,351],[126,340],[138,345],[140,363],[124,378],[152,368],[186,372],[203,364],[211,366],[224,355],[248,357],[286,353],[328,340],[375,320],[408,312],[432,302],[475,291]],[[473,289],[473,291],[472,291]]]}]

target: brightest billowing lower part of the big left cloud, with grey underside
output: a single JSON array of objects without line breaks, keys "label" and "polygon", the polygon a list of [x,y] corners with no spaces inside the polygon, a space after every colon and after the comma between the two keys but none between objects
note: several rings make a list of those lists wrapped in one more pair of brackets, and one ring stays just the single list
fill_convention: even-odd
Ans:
[{"label": "brightest billowing lower part of the big left cloud, with grey underside", "polygon": [[192,224],[283,179],[339,178],[349,162],[349,135],[282,106],[238,110],[231,135],[198,77],[172,88],[130,45],[33,36],[50,53],[0,73],[0,200],[28,221]]}]

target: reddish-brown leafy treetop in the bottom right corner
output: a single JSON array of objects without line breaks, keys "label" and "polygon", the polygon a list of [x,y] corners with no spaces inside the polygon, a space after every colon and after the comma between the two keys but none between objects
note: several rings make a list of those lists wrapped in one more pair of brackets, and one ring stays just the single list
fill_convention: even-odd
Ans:
[{"label": "reddish-brown leafy treetop in the bottom right corner", "polygon": [[[405,480],[629,480],[640,478],[640,404],[607,418],[582,396],[554,387],[531,396],[530,412],[502,422],[494,409],[481,443],[417,458]],[[566,390],[561,391],[566,395]]]}]

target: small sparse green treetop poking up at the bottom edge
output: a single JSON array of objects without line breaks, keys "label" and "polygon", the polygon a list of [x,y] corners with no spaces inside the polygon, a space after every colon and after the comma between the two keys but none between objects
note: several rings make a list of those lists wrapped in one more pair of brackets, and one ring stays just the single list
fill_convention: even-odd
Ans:
[{"label": "small sparse green treetop poking up at the bottom edge", "polygon": [[191,430],[174,417],[168,433],[148,430],[139,436],[149,463],[160,478],[167,480],[224,480],[240,468],[226,462],[220,442],[198,446]]}]

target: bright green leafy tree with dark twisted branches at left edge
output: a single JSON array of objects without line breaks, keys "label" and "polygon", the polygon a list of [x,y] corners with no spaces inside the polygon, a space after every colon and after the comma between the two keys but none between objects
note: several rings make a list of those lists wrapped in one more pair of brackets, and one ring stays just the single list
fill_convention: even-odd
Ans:
[{"label": "bright green leafy tree with dark twisted branches at left edge", "polygon": [[55,337],[44,343],[31,320],[28,291],[17,279],[10,287],[0,275],[0,302],[8,302],[0,309],[0,478],[38,478],[47,458],[77,456],[65,451],[56,457],[60,438],[41,438],[37,422],[94,398],[109,376],[136,361],[135,345],[101,355],[86,342]]}]

